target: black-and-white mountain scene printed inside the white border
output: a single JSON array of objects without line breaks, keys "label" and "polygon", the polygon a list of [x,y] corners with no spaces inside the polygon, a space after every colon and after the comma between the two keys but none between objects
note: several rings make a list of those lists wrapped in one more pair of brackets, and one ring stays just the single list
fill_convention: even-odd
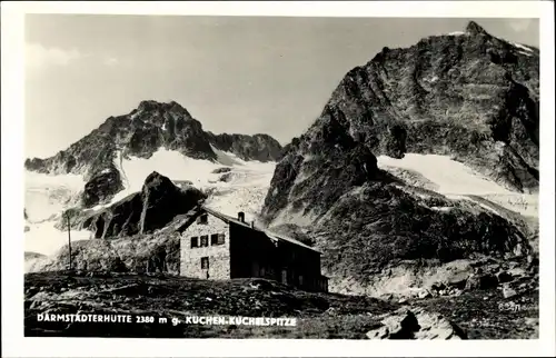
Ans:
[{"label": "black-and-white mountain scene printed inside the white border", "polygon": [[23,30],[24,337],[539,339],[538,17]]}]

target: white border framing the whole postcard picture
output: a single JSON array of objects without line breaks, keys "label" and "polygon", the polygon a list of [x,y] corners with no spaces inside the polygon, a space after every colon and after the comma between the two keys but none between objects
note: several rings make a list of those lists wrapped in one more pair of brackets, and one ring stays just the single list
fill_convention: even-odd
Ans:
[{"label": "white border framing the whole postcard picture", "polygon": [[[538,340],[376,341],[23,337],[24,13],[540,19],[540,336]],[[554,356],[554,3],[552,1],[2,2],[2,356]]]}]

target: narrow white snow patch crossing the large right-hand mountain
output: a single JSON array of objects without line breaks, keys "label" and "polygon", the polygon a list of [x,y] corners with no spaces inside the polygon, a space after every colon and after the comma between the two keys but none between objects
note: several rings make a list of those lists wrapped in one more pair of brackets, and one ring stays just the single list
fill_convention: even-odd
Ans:
[{"label": "narrow white snow patch crossing the large right-hand mountain", "polygon": [[450,199],[475,201],[469,196],[479,196],[524,216],[538,216],[537,195],[510,191],[447,156],[406,153],[403,159],[387,156],[377,159],[378,167],[387,171],[404,169],[423,176],[434,185],[434,191]]}]

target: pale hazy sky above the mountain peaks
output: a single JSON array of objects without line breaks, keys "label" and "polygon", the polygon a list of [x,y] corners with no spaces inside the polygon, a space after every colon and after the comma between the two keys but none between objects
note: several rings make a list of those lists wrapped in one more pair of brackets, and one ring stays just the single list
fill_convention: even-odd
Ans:
[{"label": "pale hazy sky above the mountain peaks", "polygon": [[[27,16],[26,157],[66,149],[146,99],[179,102],[205,130],[286,143],[383,47],[461,31],[469,20]],[[475,21],[538,47],[538,20]]]}]

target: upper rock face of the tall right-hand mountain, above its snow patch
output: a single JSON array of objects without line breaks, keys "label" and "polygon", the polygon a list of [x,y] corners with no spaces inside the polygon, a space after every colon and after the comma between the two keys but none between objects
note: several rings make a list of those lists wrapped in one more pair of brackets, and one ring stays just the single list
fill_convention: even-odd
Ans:
[{"label": "upper rock face of the tall right-hand mountain, above its snow patch", "polygon": [[475,22],[465,33],[384,48],[345,76],[290,147],[307,146],[328,128],[375,156],[448,155],[514,190],[536,190],[538,53]]}]

